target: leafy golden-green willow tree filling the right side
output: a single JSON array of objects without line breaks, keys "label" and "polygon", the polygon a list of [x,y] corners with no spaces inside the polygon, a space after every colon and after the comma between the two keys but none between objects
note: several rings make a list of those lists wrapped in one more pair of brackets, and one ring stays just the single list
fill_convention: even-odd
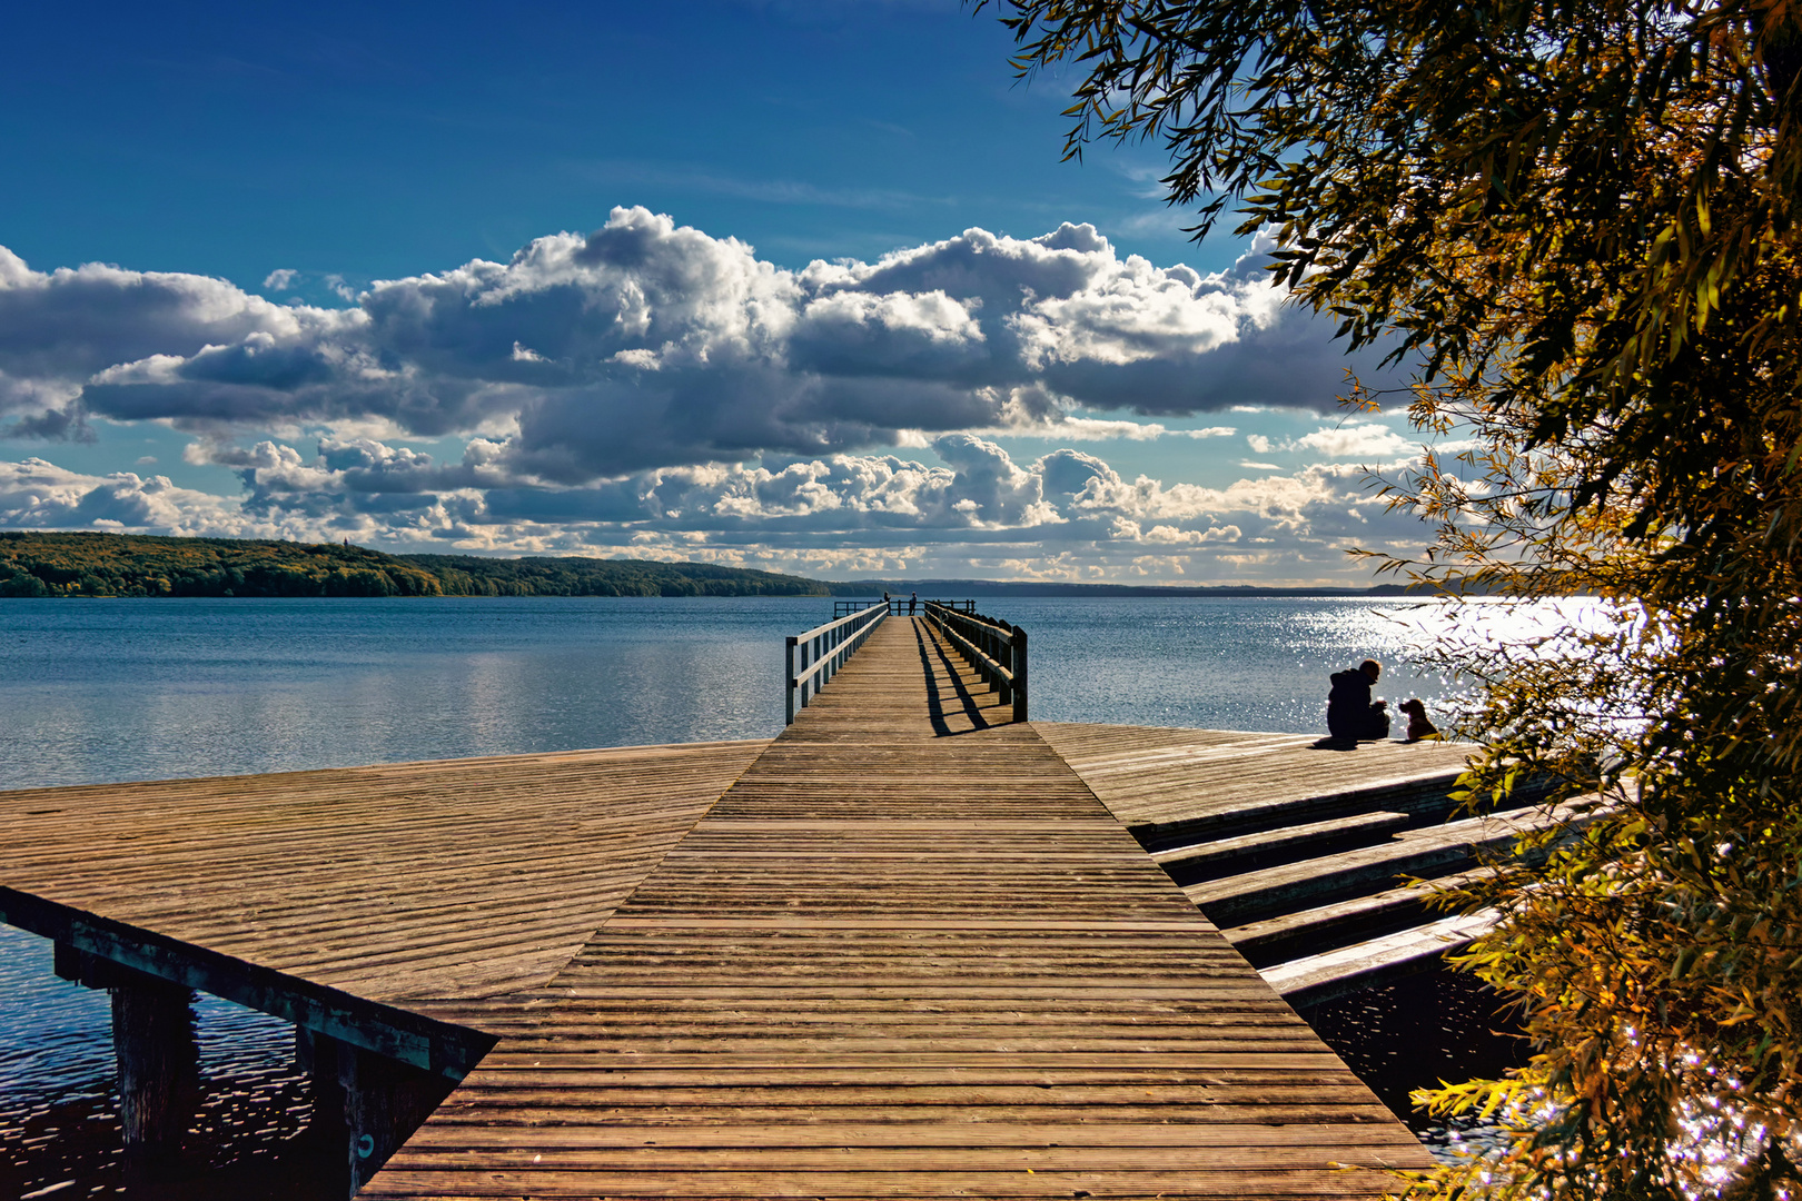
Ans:
[{"label": "leafy golden-green willow tree filling the right side", "polygon": [[[1416,580],[1591,591],[1611,621],[1447,648],[1469,787],[1613,803],[1465,963],[1519,998],[1514,1122],[1438,1196],[1797,1196],[1802,1174],[1802,25],[1788,0],[1009,0],[1022,74],[1087,72],[1069,151],[1157,137],[1206,232],[1418,371],[1467,447],[1386,481]],[[1353,391],[1355,407],[1388,398]]]}]

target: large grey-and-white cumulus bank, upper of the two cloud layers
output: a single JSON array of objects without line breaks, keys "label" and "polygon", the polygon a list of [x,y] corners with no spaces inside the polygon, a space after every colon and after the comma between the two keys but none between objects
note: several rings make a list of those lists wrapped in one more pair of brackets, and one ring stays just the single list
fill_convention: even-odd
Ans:
[{"label": "large grey-and-white cumulus bank, upper of the two cloud layers", "polygon": [[[270,290],[294,272],[272,272]],[[508,263],[380,281],[351,308],[200,275],[34,272],[0,248],[0,418],[247,429],[353,423],[497,436],[519,479],[899,445],[1074,407],[1328,411],[1346,360],[1251,254],[1200,275],[1119,257],[1090,225],[971,229],[795,272],[647,209]]]}]

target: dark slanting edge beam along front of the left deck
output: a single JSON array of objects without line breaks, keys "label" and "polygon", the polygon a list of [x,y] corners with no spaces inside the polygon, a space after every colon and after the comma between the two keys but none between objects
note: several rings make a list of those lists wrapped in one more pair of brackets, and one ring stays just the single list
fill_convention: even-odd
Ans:
[{"label": "dark slanting edge beam along front of the left deck", "polygon": [[0,922],[454,1080],[499,1041],[481,1030],[369,1001],[14,888],[0,888]]}]

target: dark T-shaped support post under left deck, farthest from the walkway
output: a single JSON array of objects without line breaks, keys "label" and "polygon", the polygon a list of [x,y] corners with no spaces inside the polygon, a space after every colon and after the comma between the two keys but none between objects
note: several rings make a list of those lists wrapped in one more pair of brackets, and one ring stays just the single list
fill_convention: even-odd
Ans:
[{"label": "dark T-shaped support post under left deck, farthest from the walkway", "polygon": [[200,1109],[200,1044],[195,990],[56,944],[56,974],[112,994],[114,1057],[119,1064],[119,1125],[132,1176],[168,1176]]}]

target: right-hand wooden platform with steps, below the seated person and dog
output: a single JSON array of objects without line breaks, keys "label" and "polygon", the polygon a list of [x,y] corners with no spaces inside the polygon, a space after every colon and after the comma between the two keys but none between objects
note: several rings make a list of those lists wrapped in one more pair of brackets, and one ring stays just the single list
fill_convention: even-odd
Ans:
[{"label": "right-hand wooden platform with steps, below the seated person and dog", "polygon": [[[1391,983],[1467,945],[1497,915],[1445,917],[1425,877],[1469,877],[1481,853],[1570,817],[1526,805],[1447,821],[1470,751],[1458,744],[1036,729],[1297,1007]],[[1517,801],[1532,798],[1523,787]]]}]

